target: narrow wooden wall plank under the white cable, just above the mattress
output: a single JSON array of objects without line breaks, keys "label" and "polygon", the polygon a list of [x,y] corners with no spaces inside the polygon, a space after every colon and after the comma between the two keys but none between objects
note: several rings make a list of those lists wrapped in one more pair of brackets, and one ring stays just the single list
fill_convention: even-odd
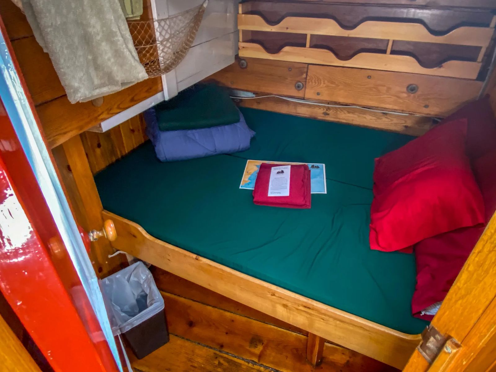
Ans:
[{"label": "narrow wooden wall plank under the white cable, just above the mattress", "polygon": [[344,106],[325,107],[289,102],[276,97],[241,100],[240,105],[253,109],[325,120],[327,122],[353,124],[415,136],[424,134],[432,127],[432,119],[427,117],[383,114]]}]

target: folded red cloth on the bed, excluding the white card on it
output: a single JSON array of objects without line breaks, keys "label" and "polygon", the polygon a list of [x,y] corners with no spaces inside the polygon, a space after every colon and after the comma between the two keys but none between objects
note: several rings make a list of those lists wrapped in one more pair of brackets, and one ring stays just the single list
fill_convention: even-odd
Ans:
[{"label": "folded red cloth on the bed, excluding the white card on it", "polygon": [[253,189],[253,203],[272,207],[310,208],[310,169],[307,164],[291,165],[288,196],[268,196],[271,170],[281,166],[287,164],[260,164]]}]

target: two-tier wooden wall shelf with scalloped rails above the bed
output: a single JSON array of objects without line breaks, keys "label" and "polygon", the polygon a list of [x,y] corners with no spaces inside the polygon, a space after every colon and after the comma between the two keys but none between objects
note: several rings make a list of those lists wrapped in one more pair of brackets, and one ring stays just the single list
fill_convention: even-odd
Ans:
[{"label": "two-tier wooden wall shelf with scalloped rails above the bed", "polygon": [[494,23],[489,11],[246,2],[239,54],[476,79]]}]

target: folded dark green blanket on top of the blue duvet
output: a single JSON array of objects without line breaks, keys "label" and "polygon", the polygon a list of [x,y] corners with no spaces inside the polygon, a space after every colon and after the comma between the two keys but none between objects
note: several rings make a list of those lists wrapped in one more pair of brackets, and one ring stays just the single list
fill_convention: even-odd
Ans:
[{"label": "folded dark green blanket on top of the blue duvet", "polygon": [[187,130],[238,123],[240,113],[226,90],[204,85],[157,106],[159,129]]}]

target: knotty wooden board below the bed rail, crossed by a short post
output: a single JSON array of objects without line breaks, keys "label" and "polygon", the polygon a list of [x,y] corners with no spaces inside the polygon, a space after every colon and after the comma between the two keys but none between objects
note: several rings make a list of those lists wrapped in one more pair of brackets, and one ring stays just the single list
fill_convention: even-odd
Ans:
[{"label": "knotty wooden board below the bed rail, crossed by a short post", "polygon": [[[162,292],[169,331],[188,340],[251,360],[280,372],[312,372],[307,362],[308,337],[245,316]],[[313,338],[316,340],[316,338]],[[392,372],[372,358],[324,344],[319,371]]]}]

